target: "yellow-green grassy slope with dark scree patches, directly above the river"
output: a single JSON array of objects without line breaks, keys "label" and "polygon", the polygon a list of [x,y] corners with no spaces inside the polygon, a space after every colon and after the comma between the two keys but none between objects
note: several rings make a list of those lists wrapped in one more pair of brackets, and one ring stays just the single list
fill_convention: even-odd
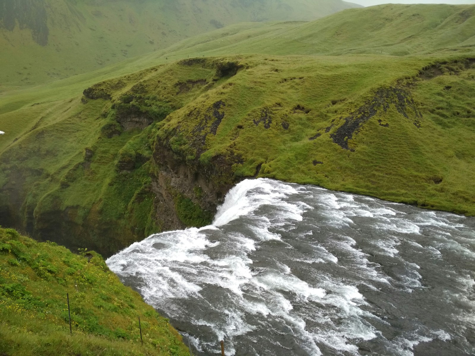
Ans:
[{"label": "yellow-green grassy slope with dark scree patches, directly above the river", "polygon": [[[427,58],[272,57],[266,61],[252,57],[241,61],[251,68],[232,78],[232,86],[223,85],[201,96],[172,113],[161,127],[165,137],[180,127],[178,132],[187,139],[180,150],[187,155],[193,155],[193,132],[202,118],[191,115],[190,120],[190,112],[222,100],[226,120],[216,136],[207,137],[209,150],[202,161],[218,154],[238,155],[244,164],[235,165],[236,173],[244,177],[258,173],[475,214],[475,161],[470,153],[475,150],[473,65],[457,76],[423,80],[416,75],[418,68],[429,64]],[[404,78],[411,79],[398,85]],[[411,85],[403,99],[408,103],[408,118],[396,110],[393,97],[381,100],[378,94],[381,88],[390,92],[405,88],[406,83]],[[411,100],[422,114],[420,127],[414,124],[418,116],[410,108]],[[353,151],[343,150],[331,135],[345,118],[376,101],[381,101],[376,114],[348,141]],[[386,111],[383,103],[389,103]],[[316,134],[321,136],[310,140]]]}]

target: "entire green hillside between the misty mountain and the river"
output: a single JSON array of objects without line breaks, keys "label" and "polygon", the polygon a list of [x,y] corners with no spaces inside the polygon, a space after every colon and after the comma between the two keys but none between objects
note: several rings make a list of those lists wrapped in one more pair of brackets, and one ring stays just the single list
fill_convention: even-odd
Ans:
[{"label": "entire green hillside between the misty mountain and the river", "polygon": [[4,93],[0,224],[109,255],[252,177],[475,215],[474,11],[233,25]]}]

